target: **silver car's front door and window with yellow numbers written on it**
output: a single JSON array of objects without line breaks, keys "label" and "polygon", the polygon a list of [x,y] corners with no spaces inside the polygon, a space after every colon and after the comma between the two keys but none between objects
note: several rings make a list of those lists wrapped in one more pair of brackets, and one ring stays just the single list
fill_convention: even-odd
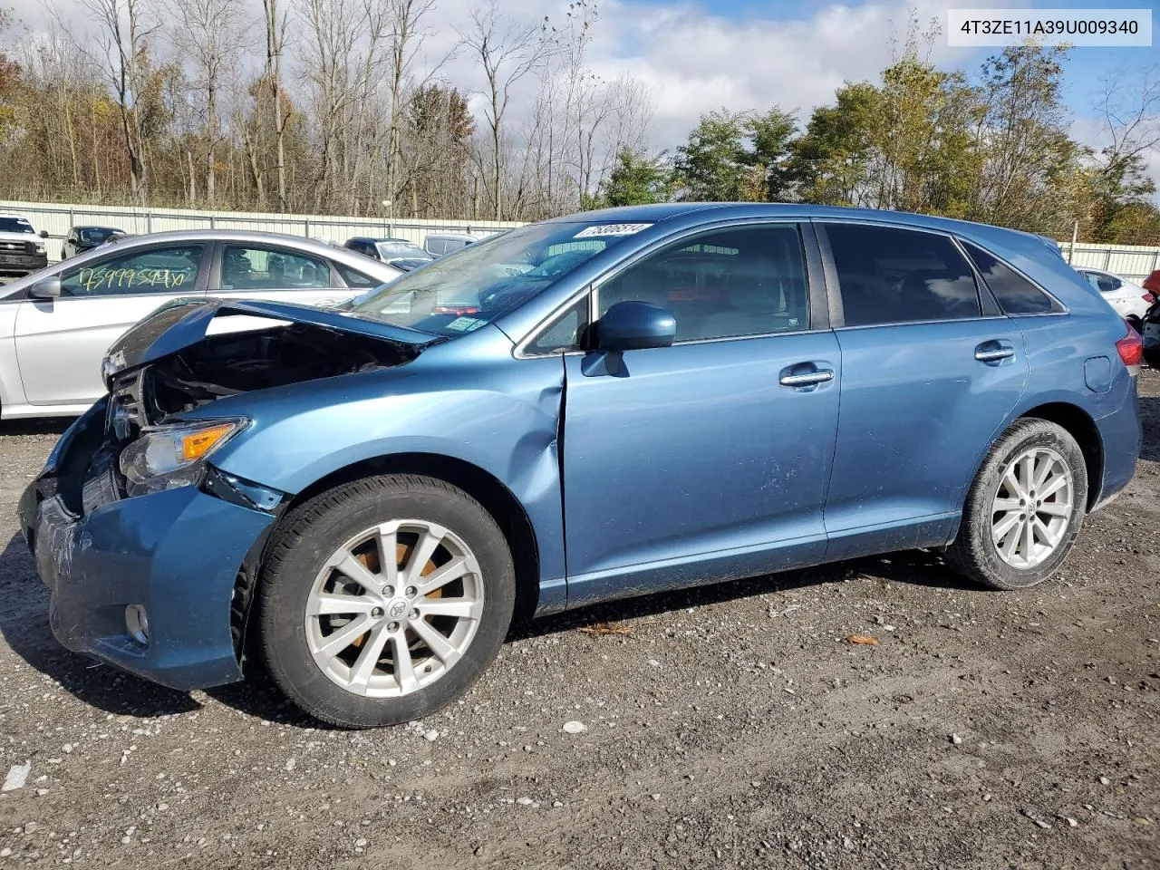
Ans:
[{"label": "silver car's front door and window with yellow numbers written on it", "polygon": [[16,360],[31,405],[92,403],[104,394],[101,360],[137,321],[173,299],[201,296],[203,246],[119,252],[65,269],[57,299],[24,299]]}]

